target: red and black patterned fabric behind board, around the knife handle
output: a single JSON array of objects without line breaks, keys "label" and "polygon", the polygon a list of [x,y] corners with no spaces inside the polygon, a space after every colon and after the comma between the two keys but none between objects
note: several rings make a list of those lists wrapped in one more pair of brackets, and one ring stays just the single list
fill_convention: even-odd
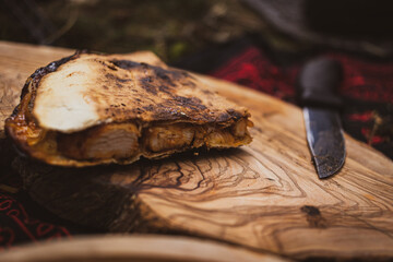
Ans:
[{"label": "red and black patterned fabric behind board, around the knife handle", "polygon": [[[370,62],[343,53],[324,56],[343,66],[340,94],[348,100],[345,130],[392,157],[393,62]],[[278,67],[261,49],[250,46],[211,74],[294,103],[301,66]]]}]

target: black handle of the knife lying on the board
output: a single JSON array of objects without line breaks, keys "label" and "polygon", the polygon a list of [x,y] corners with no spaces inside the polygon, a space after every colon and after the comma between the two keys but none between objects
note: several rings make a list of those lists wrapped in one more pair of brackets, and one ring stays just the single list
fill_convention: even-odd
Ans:
[{"label": "black handle of the knife lying on the board", "polygon": [[302,106],[343,106],[337,87],[343,79],[342,66],[335,60],[319,58],[308,62],[301,70],[298,88]]}]

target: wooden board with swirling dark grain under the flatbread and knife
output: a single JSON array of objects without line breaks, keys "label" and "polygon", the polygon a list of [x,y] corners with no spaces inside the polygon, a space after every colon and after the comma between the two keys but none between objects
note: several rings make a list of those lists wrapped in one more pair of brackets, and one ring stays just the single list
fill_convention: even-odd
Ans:
[{"label": "wooden board with swirling dark grain under the flatbread and knife", "polygon": [[[72,52],[0,43],[2,117],[25,78]],[[109,231],[207,237],[295,259],[393,258],[392,160],[345,135],[344,168],[320,180],[298,107],[198,78],[250,108],[250,146],[84,169],[19,158],[14,166],[32,198],[63,218]]]}]

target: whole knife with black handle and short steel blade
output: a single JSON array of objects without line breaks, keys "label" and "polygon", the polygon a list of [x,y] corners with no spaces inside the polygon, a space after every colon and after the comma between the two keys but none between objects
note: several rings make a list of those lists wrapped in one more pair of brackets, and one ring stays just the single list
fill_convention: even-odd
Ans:
[{"label": "whole knife with black handle and short steel blade", "polygon": [[341,81],[341,63],[323,58],[308,62],[299,75],[307,141],[319,178],[336,174],[345,162],[345,140],[338,115],[343,102],[336,94]]}]

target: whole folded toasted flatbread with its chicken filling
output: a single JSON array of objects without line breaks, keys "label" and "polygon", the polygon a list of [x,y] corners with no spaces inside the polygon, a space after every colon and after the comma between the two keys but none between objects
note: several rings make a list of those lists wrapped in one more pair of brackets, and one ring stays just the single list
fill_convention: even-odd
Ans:
[{"label": "whole folded toasted flatbread with its chicken filling", "polygon": [[184,71],[76,52],[26,81],[5,131],[20,151],[51,165],[130,164],[248,144],[249,117]]}]

